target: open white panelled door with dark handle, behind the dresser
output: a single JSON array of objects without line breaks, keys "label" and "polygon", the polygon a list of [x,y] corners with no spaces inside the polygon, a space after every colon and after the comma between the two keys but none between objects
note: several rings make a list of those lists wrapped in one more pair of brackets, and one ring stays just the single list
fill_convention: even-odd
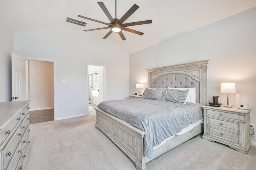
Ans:
[{"label": "open white panelled door with dark handle, behind the dresser", "polygon": [[12,101],[26,100],[26,60],[12,53]]}]

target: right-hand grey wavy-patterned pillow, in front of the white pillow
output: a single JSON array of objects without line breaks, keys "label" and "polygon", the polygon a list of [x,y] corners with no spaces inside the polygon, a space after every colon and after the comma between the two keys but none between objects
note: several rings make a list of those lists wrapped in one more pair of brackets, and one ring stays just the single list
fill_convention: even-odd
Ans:
[{"label": "right-hand grey wavy-patterned pillow, in front of the white pillow", "polygon": [[162,100],[171,101],[174,103],[185,104],[189,90],[178,90],[166,88],[162,95]]}]

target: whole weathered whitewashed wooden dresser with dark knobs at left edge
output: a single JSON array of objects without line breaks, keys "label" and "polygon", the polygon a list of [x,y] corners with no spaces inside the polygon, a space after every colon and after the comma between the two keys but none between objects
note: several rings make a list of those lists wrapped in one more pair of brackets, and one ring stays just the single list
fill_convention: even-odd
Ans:
[{"label": "whole weathered whitewashed wooden dresser with dark knobs at left edge", "polygon": [[29,101],[0,102],[0,170],[23,170],[30,152]]}]

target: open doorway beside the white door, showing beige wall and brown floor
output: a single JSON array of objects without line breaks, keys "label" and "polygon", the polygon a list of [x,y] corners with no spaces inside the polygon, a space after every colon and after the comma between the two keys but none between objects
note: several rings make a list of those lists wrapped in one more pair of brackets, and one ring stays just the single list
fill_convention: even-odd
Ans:
[{"label": "open doorway beside the white door, showing beige wall and brown floor", "polygon": [[54,62],[26,60],[30,124],[54,120]]}]

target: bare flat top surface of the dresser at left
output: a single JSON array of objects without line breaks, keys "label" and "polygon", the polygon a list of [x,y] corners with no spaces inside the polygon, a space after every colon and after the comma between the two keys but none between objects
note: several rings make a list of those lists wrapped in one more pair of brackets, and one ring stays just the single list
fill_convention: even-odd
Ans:
[{"label": "bare flat top surface of the dresser at left", "polygon": [[28,100],[16,102],[0,102],[0,130],[8,124],[15,115],[29,104]]}]

